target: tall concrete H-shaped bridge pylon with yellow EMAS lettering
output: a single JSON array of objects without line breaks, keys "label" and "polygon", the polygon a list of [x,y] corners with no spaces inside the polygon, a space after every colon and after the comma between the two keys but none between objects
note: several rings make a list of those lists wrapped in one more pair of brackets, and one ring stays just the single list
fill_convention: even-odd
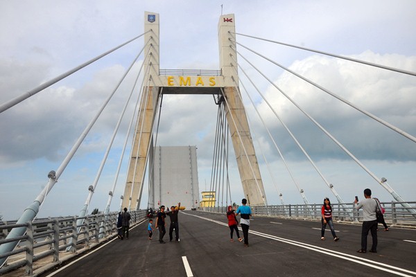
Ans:
[{"label": "tall concrete H-shaped bridge pylon with yellow EMAS lettering", "polygon": [[[150,78],[142,89],[135,141],[133,143],[128,178],[122,206],[138,208],[141,201],[146,170],[146,157],[151,150],[155,114],[160,94],[214,94],[225,98],[225,112],[236,154],[241,185],[245,198],[252,206],[267,205],[266,193],[252,143],[247,115],[239,91],[236,65],[235,18],[233,14],[221,15],[218,21],[220,70],[163,70],[159,69],[159,14],[144,15],[145,64]],[[154,179],[150,177],[149,179]],[[150,199],[157,204],[158,199]]]}]

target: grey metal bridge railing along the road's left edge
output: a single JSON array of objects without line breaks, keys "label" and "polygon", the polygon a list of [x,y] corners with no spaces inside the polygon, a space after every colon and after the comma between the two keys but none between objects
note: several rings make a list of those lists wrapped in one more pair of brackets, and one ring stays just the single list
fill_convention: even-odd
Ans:
[{"label": "grey metal bridge railing along the road's left edge", "polygon": [[[130,225],[135,225],[146,218],[146,210],[132,211],[130,215]],[[19,267],[25,268],[26,275],[32,275],[36,267],[42,267],[42,264],[35,265],[42,258],[51,256],[47,265],[51,268],[96,244],[114,238],[117,234],[117,216],[118,212],[114,212],[87,217],[54,217],[24,224],[0,222],[0,245],[19,241],[13,251],[0,253],[0,260],[8,259],[0,267],[0,275]],[[83,224],[77,225],[78,219],[83,219]],[[26,234],[7,239],[6,236],[14,228],[25,228]]]}]

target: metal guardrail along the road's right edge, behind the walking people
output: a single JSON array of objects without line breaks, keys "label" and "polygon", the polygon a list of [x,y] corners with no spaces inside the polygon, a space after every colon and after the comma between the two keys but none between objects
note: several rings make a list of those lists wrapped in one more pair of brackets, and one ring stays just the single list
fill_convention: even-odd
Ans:
[{"label": "metal guardrail along the road's right edge, behind the walking people", "polygon": [[[385,208],[384,220],[389,225],[408,225],[416,226],[416,218],[408,211],[408,208],[401,206],[404,202],[381,202],[381,206]],[[416,209],[416,202],[406,202],[412,208]],[[345,222],[361,222],[363,220],[363,210],[357,211],[353,203],[345,204],[350,211],[353,212],[353,217],[349,215],[350,211],[345,211],[345,208],[340,204],[331,204],[332,216],[334,220]],[[270,217],[286,217],[293,219],[321,219],[322,204],[309,205],[272,205],[272,206],[250,206],[253,215],[270,216]],[[207,207],[202,208],[202,211],[209,211],[214,213],[226,213],[227,207]]]}]

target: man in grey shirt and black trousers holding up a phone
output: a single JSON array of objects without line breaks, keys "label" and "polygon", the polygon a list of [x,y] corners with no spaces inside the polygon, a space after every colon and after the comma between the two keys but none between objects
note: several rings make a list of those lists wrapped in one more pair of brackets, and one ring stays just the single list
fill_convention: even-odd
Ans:
[{"label": "man in grey shirt and black trousers holding up a phone", "polygon": [[358,253],[367,252],[367,235],[368,231],[371,232],[372,236],[372,247],[370,252],[377,253],[377,219],[376,219],[376,209],[377,202],[371,198],[370,188],[364,190],[365,199],[358,202],[355,199],[354,204],[356,210],[363,208],[363,227],[361,229],[361,249],[358,249]]}]

